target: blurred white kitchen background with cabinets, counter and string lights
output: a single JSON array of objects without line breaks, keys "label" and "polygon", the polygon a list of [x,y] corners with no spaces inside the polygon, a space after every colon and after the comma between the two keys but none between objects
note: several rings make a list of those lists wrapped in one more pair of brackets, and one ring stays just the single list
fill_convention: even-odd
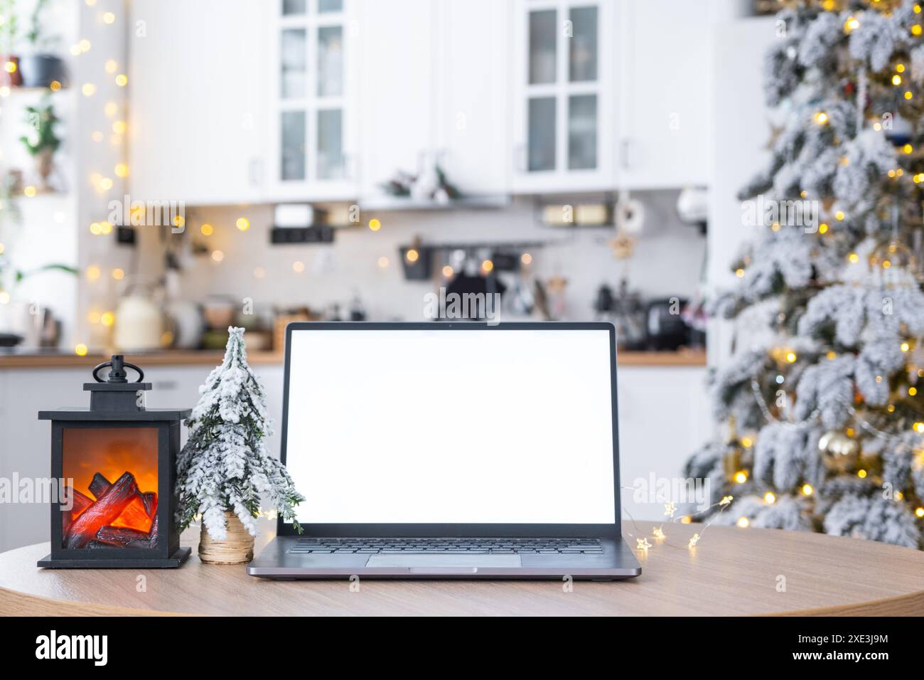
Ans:
[{"label": "blurred white kitchen background with cabinets, counter and string lights", "polygon": [[[188,407],[243,325],[279,418],[288,321],[419,321],[442,286],[614,321],[623,483],[678,475],[727,349],[701,302],[769,134],[771,8],[0,0],[0,476],[47,475],[36,412],[85,403],[112,351]],[[0,550],[46,520],[7,506]]]}]

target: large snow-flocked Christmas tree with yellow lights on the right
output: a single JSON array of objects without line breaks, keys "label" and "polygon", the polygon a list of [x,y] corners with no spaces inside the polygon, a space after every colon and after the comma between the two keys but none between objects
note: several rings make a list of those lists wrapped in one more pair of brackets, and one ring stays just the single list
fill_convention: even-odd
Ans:
[{"label": "large snow-flocked Christmas tree with yellow lights on the right", "polygon": [[764,212],[713,299],[737,329],[722,433],[687,474],[734,495],[720,523],[924,548],[924,11],[784,6],[763,74],[784,122],[739,196]]}]

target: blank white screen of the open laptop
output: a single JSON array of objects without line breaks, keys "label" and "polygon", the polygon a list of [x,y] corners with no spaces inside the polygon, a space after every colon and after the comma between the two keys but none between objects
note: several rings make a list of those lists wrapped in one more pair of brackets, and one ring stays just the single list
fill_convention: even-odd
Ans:
[{"label": "blank white screen of the open laptop", "polygon": [[606,330],[293,330],[303,524],[612,524]]}]

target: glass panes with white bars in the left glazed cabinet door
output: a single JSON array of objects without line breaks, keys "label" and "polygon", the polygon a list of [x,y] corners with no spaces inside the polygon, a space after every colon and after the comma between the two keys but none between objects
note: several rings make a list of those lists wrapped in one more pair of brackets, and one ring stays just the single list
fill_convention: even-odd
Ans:
[{"label": "glass panes with white bars in the left glazed cabinet door", "polygon": [[278,88],[274,185],[323,197],[346,179],[346,106],[350,0],[277,0]]}]

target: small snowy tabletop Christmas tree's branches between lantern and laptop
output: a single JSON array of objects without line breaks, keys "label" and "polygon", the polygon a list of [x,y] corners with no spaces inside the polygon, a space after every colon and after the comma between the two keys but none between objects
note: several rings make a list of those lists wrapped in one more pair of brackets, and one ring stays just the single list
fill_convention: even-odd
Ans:
[{"label": "small snowy tabletop Christmas tree's branches between lantern and laptop", "polygon": [[247,364],[243,328],[228,328],[225,359],[199,391],[199,403],[186,421],[189,439],[176,462],[180,530],[201,514],[209,537],[222,541],[237,515],[252,537],[261,495],[294,522],[295,506],[305,499],[286,467],[263,446],[271,422],[263,387]]}]

